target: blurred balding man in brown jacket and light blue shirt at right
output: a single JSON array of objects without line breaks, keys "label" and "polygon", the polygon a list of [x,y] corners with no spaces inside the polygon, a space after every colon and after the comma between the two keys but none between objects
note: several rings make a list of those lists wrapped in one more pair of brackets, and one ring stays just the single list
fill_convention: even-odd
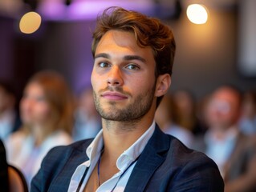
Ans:
[{"label": "blurred balding man in brown jacket and light blue shirt at right", "polygon": [[240,107],[237,90],[230,86],[215,90],[205,109],[209,130],[193,146],[217,163],[226,192],[256,191],[256,141],[238,129]]}]

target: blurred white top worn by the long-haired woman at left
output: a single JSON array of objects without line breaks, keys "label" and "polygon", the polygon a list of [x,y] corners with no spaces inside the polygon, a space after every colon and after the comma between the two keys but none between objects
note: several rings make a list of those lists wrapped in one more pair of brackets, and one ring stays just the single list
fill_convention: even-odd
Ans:
[{"label": "blurred white top worn by the long-haired woman at left", "polygon": [[44,142],[35,148],[35,138],[24,134],[22,130],[11,134],[6,141],[7,162],[17,166],[30,184],[31,179],[39,171],[44,156],[54,146],[68,145],[72,142],[69,134],[58,130],[49,135]]}]

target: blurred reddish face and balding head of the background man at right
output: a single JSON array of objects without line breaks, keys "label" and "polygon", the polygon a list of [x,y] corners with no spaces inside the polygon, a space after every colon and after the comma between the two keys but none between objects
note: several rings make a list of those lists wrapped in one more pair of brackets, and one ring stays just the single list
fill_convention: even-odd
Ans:
[{"label": "blurred reddish face and balding head of the background man at right", "polygon": [[206,107],[206,120],[214,129],[226,130],[238,122],[241,95],[230,86],[222,86],[213,92]]}]

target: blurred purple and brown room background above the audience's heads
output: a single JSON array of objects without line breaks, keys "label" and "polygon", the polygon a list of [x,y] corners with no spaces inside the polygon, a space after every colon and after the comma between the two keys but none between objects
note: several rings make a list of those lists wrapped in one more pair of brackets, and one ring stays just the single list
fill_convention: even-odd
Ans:
[{"label": "blurred purple and brown room background above the audience's heads", "polygon": [[[204,24],[189,21],[194,3],[207,11]],[[188,89],[200,99],[223,84],[242,91],[256,86],[254,0],[0,0],[0,78],[14,82],[18,96],[27,79],[44,69],[63,74],[75,93],[89,86],[91,30],[108,6],[138,10],[173,29],[170,91]],[[39,15],[22,20],[30,11]]]}]

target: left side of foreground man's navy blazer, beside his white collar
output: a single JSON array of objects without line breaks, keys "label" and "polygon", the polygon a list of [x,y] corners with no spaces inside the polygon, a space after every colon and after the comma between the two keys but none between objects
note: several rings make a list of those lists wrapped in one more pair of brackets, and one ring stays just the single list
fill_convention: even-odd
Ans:
[{"label": "left side of foreground man's navy blazer, beside his white collar", "polygon": [[86,139],[68,146],[52,148],[43,158],[39,172],[32,179],[31,191],[51,191],[56,183],[62,183],[58,187],[67,191],[69,179],[76,167],[88,159],[86,149],[91,142],[92,139]]}]

